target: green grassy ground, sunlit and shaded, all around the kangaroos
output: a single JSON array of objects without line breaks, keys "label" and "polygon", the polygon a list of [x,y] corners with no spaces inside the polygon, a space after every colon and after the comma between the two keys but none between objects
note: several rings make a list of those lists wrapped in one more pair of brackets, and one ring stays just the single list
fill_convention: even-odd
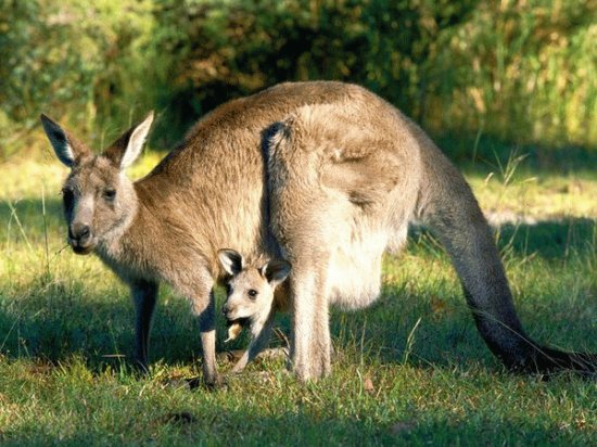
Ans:
[{"label": "green grassy ground, sunlit and shaded, all around the kangaroos", "polygon": [[[155,162],[147,155],[132,175]],[[513,220],[499,245],[521,318],[542,342],[597,352],[597,175],[523,164],[509,176],[513,167],[477,164],[467,175],[486,210]],[[595,382],[507,373],[477,334],[446,255],[419,232],[385,259],[376,305],[333,312],[331,376],[302,384],[282,360],[261,360],[219,389],[189,389],[181,379],[201,370],[196,323],[163,288],[152,373],[139,378],[126,362],[126,288],[94,257],[62,250],[66,169],[50,155],[1,169],[2,445],[595,443]],[[287,316],[279,323],[288,330]],[[226,346],[224,329],[218,320],[219,350],[246,346]]]}]

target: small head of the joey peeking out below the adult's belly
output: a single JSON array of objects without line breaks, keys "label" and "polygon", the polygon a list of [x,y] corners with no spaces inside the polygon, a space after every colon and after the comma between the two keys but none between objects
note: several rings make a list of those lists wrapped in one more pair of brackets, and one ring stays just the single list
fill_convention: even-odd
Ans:
[{"label": "small head of the joey peeking out below the adult's belly", "polygon": [[271,311],[276,288],[290,273],[290,264],[283,259],[271,259],[261,267],[245,266],[242,255],[233,250],[220,250],[218,258],[230,276],[226,285],[224,315],[229,322],[249,320],[252,325],[263,325]]}]

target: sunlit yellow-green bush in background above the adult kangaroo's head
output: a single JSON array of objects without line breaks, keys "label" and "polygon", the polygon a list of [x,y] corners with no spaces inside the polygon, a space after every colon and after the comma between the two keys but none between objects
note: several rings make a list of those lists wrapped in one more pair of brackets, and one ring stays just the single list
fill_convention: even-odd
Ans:
[{"label": "sunlit yellow-green bush in background above the adult kangaroo's head", "polygon": [[113,115],[122,124],[142,101],[136,95],[147,61],[139,49],[150,43],[151,2],[0,1],[4,154],[23,144],[42,111],[85,135]]}]

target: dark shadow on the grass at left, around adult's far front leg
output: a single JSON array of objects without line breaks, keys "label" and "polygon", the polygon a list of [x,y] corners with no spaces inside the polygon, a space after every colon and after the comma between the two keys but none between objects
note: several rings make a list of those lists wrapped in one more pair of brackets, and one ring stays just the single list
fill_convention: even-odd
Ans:
[{"label": "dark shadow on the grass at left, around adult's far front leg", "polygon": [[[84,281],[67,289],[38,282],[28,290],[27,296],[0,302],[0,353],[51,362],[81,355],[96,370],[132,358],[135,314],[126,290],[115,288],[101,296]],[[199,353],[199,327],[185,301],[163,298],[152,331],[152,359],[191,362]]]}]

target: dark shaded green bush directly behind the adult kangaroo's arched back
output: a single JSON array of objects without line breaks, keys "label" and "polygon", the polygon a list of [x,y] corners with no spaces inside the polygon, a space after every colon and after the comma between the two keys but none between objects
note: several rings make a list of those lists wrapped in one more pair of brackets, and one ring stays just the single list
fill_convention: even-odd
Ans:
[{"label": "dark shaded green bush directly behind the adult kangaroo's arched back", "polygon": [[161,86],[168,123],[283,80],[336,79],[378,92],[421,120],[430,50],[477,1],[170,0],[155,44],[173,54]]}]

